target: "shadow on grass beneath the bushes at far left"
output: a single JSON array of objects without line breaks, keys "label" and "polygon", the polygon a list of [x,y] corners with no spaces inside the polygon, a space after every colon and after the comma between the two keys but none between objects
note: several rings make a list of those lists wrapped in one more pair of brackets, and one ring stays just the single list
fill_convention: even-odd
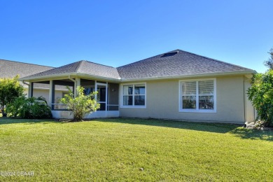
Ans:
[{"label": "shadow on grass beneath the bushes at far left", "polygon": [[27,123],[29,125],[35,123],[59,123],[56,120],[52,119],[43,119],[43,120],[31,120],[31,119],[14,119],[14,118],[0,118],[0,125],[10,125],[10,124],[18,124],[18,123]]}]

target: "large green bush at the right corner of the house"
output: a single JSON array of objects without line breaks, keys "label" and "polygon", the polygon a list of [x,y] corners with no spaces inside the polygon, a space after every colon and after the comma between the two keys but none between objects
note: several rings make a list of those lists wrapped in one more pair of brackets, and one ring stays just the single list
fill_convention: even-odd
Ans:
[{"label": "large green bush at the right corner of the house", "polygon": [[257,110],[265,126],[273,127],[273,70],[257,73],[253,76],[248,89],[248,99]]}]

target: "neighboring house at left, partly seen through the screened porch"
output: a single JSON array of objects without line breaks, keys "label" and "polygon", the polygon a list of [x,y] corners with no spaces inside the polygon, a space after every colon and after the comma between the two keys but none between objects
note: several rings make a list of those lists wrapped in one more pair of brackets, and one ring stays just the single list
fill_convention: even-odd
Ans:
[{"label": "neighboring house at left, partly seen through the screened porch", "polygon": [[[14,62],[10,60],[0,59],[0,78],[14,78],[19,75],[20,78],[30,76],[43,71],[54,69],[52,66],[42,66],[37,64],[29,64],[24,62]],[[28,97],[29,83],[21,81],[21,84],[25,88],[24,94]],[[45,97],[48,102],[49,96],[49,85],[35,83],[33,97]],[[63,94],[67,93],[66,87],[57,87],[56,94],[58,97],[62,97]]]}]

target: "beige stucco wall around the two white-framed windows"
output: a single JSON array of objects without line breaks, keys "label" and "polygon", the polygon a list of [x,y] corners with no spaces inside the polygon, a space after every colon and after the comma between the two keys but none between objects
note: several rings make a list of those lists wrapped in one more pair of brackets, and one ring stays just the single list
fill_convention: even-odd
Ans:
[{"label": "beige stucco wall around the two white-framed windows", "polygon": [[146,109],[120,108],[120,116],[241,124],[245,121],[244,76],[216,78],[216,113],[179,112],[179,80],[147,81],[146,92]]}]

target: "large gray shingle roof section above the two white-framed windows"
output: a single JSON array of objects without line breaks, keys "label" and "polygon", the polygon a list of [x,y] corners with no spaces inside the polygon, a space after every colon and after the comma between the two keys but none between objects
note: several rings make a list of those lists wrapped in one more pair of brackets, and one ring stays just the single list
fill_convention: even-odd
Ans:
[{"label": "large gray shingle roof section above the two white-framed windows", "polygon": [[117,69],[120,77],[125,79],[253,71],[183,50],[166,52]]}]

